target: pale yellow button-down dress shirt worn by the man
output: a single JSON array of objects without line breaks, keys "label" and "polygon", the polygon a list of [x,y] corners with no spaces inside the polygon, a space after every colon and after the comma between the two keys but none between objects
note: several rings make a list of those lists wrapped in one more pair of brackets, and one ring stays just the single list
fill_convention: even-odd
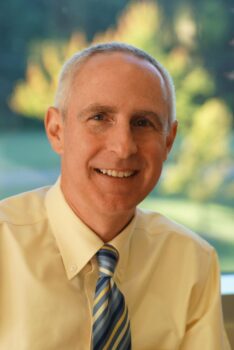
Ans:
[{"label": "pale yellow button-down dress shirt worn by the man", "polygon": [[[133,350],[228,350],[212,247],[139,209],[110,244]],[[59,182],[0,204],[0,350],[91,349],[102,240],[70,209]]]}]

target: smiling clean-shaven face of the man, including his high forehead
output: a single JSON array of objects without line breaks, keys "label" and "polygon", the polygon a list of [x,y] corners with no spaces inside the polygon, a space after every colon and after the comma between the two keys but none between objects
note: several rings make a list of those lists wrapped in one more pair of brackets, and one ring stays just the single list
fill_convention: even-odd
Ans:
[{"label": "smiling clean-shaven face of the man, including his high forehead", "polygon": [[79,69],[65,121],[51,118],[62,190],[77,213],[129,215],[154,188],[176,133],[163,91],[157,70],[132,55],[97,54]]}]

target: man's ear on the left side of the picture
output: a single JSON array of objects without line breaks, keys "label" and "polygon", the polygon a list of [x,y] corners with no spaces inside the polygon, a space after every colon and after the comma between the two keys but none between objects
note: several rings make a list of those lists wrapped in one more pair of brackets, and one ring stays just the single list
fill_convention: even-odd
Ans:
[{"label": "man's ear on the left side of the picture", "polygon": [[64,148],[64,120],[60,111],[49,107],[45,115],[46,134],[53,150],[62,155]]}]

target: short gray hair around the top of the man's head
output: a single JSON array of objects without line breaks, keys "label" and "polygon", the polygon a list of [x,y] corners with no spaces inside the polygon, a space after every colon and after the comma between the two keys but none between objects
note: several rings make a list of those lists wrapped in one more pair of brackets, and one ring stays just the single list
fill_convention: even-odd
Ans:
[{"label": "short gray hair around the top of the man's head", "polygon": [[90,57],[96,54],[113,52],[123,52],[144,59],[151,63],[158,70],[166,86],[167,96],[165,98],[168,103],[169,125],[171,125],[171,123],[176,119],[176,108],[175,88],[170,74],[160,62],[158,62],[155,58],[153,58],[145,51],[138,49],[135,46],[120,42],[109,42],[92,45],[82,51],[75,53],[68,61],[66,61],[59,76],[58,88],[55,95],[55,107],[59,108],[65,115],[69,99],[69,89],[72,87],[79,68],[82,66],[82,64],[84,64]]}]

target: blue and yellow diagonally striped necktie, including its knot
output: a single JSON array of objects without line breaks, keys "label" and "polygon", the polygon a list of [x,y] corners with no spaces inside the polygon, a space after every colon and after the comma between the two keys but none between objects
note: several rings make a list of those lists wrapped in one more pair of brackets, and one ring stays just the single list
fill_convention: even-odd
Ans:
[{"label": "blue and yellow diagonally striped necktie, including its knot", "polygon": [[124,296],[113,280],[117,250],[105,244],[97,253],[99,278],[93,306],[93,350],[130,350],[131,336]]}]

